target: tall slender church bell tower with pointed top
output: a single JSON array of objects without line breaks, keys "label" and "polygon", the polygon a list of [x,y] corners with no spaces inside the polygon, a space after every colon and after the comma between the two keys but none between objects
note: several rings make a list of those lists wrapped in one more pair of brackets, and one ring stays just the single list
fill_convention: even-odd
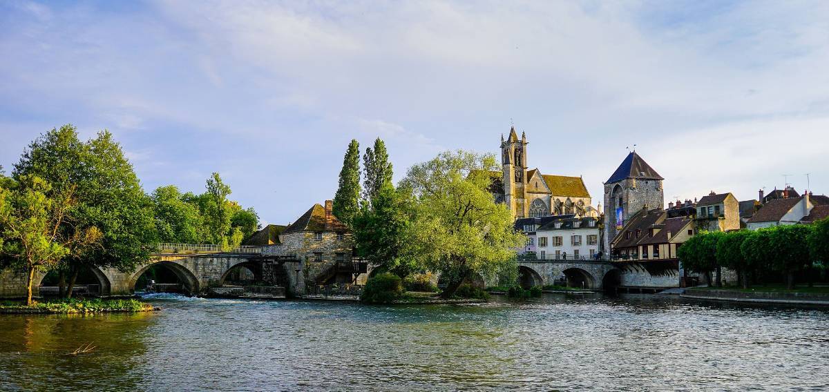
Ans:
[{"label": "tall slender church bell tower with pointed top", "polygon": [[501,138],[501,156],[504,172],[504,201],[517,218],[527,215],[526,188],[526,134],[518,140],[516,128],[510,128],[507,141]]}]

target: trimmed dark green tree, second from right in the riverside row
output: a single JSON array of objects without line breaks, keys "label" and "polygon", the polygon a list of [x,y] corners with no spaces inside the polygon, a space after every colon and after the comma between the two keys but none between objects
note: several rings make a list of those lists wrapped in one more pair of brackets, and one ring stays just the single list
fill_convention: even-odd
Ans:
[{"label": "trimmed dark green tree, second from right in the riverside row", "polygon": [[786,288],[794,288],[794,273],[811,267],[807,237],[812,230],[807,225],[783,225],[770,231],[774,255],[774,269],[786,275]]}]

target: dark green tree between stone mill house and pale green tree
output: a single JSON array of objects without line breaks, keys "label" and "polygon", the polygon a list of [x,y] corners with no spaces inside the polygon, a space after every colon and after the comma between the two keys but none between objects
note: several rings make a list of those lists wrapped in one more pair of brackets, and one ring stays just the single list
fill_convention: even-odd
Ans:
[{"label": "dark green tree between stone mill house and pale green tree", "polygon": [[410,230],[409,196],[386,184],[371,206],[361,206],[353,220],[357,254],[375,269],[396,273],[401,278],[419,269],[414,259],[401,252]]}]

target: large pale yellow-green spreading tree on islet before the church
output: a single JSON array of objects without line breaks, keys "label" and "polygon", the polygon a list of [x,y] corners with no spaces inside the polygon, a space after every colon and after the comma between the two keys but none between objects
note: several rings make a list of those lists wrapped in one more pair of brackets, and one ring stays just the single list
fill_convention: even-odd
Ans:
[{"label": "large pale yellow-green spreading tree on islet before the church", "polygon": [[516,269],[515,252],[523,235],[513,228],[506,206],[488,191],[495,156],[473,152],[443,152],[411,167],[401,186],[414,197],[414,219],[406,251],[410,257],[440,273],[453,296],[473,273],[492,278],[503,269]]}]

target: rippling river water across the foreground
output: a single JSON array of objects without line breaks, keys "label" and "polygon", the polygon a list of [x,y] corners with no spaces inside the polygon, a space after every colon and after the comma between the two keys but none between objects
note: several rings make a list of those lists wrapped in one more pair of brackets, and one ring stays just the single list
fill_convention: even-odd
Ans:
[{"label": "rippling river water across the foreground", "polygon": [[829,389],[822,310],[641,294],[148,300],[162,311],[0,315],[0,390]]}]

